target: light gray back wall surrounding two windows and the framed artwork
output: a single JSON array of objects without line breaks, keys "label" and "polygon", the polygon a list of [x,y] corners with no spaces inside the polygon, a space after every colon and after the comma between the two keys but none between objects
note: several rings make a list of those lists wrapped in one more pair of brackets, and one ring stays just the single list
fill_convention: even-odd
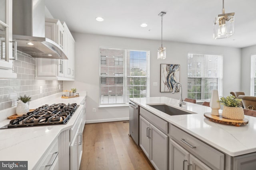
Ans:
[{"label": "light gray back wall surrounding two windows and the framed artwork", "polygon": [[[75,76],[74,82],[64,82],[64,90],[77,88],[86,90],[86,121],[93,123],[99,121],[113,121],[128,119],[128,107],[103,109],[99,106],[99,47],[125,48],[150,50],[150,96],[167,96],[179,98],[179,93],[160,93],[160,64],[180,64],[180,82],[183,85],[183,98],[187,96],[187,55],[192,53],[206,53],[224,56],[223,96],[228,96],[230,91],[240,90],[240,56],[241,49],[220,47],[212,45],[198,45],[164,41],[166,59],[157,60],[157,49],[161,41],[134,39],[125,37],[112,37],[105,35],[92,35],[72,33],[76,40],[75,45]],[[217,40],[218,41],[218,40]],[[153,86],[158,82],[158,86]],[[96,113],[92,112],[96,108]]]}]

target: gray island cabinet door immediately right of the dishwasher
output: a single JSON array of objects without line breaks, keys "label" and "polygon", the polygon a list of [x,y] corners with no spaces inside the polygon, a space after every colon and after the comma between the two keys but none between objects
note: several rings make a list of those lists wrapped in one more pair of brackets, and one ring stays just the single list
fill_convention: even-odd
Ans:
[{"label": "gray island cabinet door immediately right of the dishwasher", "polygon": [[150,159],[150,138],[149,138],[150,123],[140,116],[140,147],[146,156]]}]

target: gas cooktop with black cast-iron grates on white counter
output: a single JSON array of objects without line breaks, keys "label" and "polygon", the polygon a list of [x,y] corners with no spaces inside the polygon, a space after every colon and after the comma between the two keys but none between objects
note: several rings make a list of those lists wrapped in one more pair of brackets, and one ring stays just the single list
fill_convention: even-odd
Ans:
[{"label": "gas cooktop with black cast-iron grates on white counter", "polygon": [[44,105],[11,120],[0,129],[66,124],[78,106],[75,103]]}]

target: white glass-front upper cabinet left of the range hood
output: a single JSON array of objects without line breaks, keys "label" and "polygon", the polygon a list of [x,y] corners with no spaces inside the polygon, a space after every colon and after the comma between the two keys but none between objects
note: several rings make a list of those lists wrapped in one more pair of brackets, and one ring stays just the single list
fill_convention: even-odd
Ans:
[{"label": "white glass-front upper cabinet left of the range hood", "polygon": [[[14,43],[14,47],[15,47]],[[0,0],[0,78],[17,78],[12,71],[12,0]]]}]

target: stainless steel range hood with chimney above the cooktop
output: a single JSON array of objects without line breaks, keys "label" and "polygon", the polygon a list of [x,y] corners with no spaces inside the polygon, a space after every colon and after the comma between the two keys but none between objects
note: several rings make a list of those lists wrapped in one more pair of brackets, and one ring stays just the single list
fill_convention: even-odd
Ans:
[{"label": "stainless steel range hood with chimney above the cooktop", "polygon": [[68,59],[57,43],[45,37],[44,0],[12,0],[12,6],[17,50],[35,58]]}]

